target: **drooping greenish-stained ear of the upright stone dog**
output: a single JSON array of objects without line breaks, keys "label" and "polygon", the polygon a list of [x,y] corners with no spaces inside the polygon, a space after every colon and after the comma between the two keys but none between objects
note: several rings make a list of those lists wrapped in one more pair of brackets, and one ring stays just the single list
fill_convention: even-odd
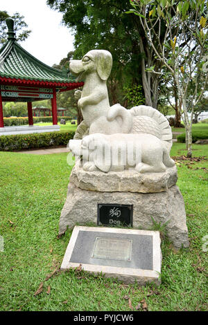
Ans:
[{"label": "drooping greenish-stained ear of the upright stone dog", "polygon": [[108,50],[99,50],[97,73],[101,80],[107,80],[112,69],[112,55]]}]

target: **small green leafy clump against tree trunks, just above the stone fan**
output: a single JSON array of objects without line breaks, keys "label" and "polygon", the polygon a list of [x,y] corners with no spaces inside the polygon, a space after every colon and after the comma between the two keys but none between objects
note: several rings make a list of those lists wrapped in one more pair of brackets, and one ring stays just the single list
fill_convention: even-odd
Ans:
[{"label": "small green leafy clump against tree trunks, just above the stone fan", "polygon": [[128,99],[128,104],[132,104],[133,106],[145,104],[145,97],[141,84],[125,87],[124,93],[125,98]]}]

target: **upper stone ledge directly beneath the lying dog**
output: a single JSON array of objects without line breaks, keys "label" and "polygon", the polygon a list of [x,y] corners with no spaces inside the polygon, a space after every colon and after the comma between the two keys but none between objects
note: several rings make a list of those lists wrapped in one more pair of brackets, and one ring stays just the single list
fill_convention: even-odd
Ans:
[{"label": "upper stone ledge directly beneath the lying dog", "polygon": [[71,183],[80,189],[98,192],[164,192],[177,182],[177,167],[167,168],[162,173],[140,174],[135,169],[124,171],[85,171],[78,161],[70,176]]}]

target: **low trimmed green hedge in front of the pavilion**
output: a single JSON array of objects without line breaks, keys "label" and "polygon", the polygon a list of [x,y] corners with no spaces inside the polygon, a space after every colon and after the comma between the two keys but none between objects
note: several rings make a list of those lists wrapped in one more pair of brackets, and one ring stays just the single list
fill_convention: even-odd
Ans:
[{"label": "low trimmed green hedge in front of the pavilion", "polygon": [[73,131],[55,131],[0,136],[0,151],[14,151],[67,145],[69,140],[73,139],[73,136]]}]

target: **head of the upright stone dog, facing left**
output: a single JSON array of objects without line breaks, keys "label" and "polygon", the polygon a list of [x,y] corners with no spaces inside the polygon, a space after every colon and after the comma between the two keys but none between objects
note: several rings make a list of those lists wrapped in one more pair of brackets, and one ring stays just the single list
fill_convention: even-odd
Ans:
[{"label": "head of the upright stone dog, facing left", "polygon": [[69,70],[77,81],[85,80],[88,73],[97,72],[101,80],[107,80],[112,69],[112,55],[107,50],[90,50],[81,60],[70,60]]}]

